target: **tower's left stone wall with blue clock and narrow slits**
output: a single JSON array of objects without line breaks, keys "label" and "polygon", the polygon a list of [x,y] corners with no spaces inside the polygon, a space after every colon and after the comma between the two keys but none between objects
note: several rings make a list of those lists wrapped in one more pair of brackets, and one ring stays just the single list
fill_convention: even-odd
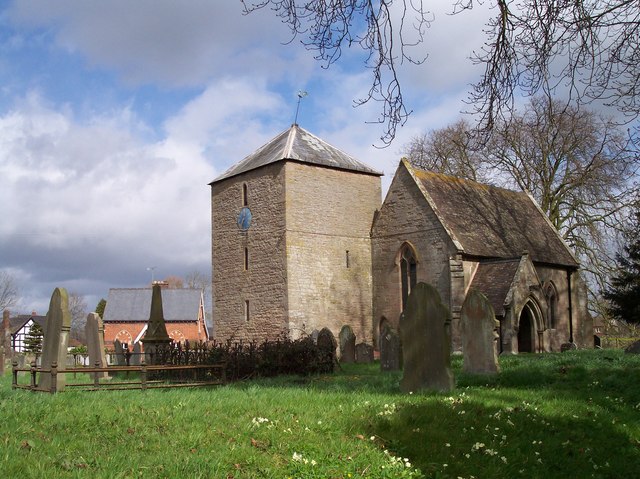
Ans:
[{"label": "tower's left stone wall with blue clock and narrow slits", "polygon": [[[252,214],[247,231],[237,224],[243,185]],[[211,209],[215,339],[287,333],[284,162],[214,183]]]}]

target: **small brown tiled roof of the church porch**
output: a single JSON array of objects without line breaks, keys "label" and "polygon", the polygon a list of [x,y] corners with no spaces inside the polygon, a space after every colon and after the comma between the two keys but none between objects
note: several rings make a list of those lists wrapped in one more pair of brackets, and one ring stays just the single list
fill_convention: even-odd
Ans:
[{"label": "small brown tiled roof of the church porch", "polygon": [[470,287],[487,297],[496,316],[504,315],[504,302],[519,264],[519,259],[480,263],[473,276]]}]

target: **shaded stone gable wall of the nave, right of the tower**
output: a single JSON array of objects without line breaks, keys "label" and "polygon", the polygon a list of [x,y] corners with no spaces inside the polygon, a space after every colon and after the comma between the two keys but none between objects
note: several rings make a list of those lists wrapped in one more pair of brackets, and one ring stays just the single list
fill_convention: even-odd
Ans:
[{"label": "shaded stone gable wall of the nave, right of the tower", "polygon": [[[382,320],[398,327],[402,312],[400,280],[400,250],[409,243],[417,253],[417,281],[434,286],[442,302],[459,311],[459,290],[452,292],[451,269],[462,274],[462,262],[442,224],[429,207],[422,192],[406,168],[400,167],[394,177],[384,204],[372,228],[373,254],[373,321],[377,338]],[[459,281],[454,281],[458,285]],[[452,297],[453,296],[455,297]],[[464,298],[462,298],[464,299]],[[452,302],[454,303],[452,305]],[[453,341],[459,340],[454,317]]]}]

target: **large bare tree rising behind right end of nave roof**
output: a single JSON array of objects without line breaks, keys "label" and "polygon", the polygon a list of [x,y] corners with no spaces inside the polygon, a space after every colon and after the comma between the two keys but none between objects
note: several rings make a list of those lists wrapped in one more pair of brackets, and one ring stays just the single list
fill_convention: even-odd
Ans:
[{"label": "large bare tree rising behind right end of nave roof", "polygon": [[[427,135],[424,150],[446,144],[450,134],[445,128]],[[524,113],[496,123],[489,143],[476,146],[469,155],[481,159],[479,170],[537,200],[580,258],[594,300],[609,278],[613,239],[638,201],[640,158],[629,137],[593,112],[534,98]],[[445,169],[455,170],[459,158],[466,157],[457,155],[450,159],[454,166]],[[461,176],[473,179],[471,173]]]}]

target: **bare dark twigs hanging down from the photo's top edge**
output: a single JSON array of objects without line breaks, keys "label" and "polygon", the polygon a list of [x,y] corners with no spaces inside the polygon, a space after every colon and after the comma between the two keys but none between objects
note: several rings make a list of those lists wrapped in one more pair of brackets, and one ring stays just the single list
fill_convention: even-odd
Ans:
[{"label": "bare dark twigs hanging down from the photo's top edge", "polygon": [[[404,103],[397,69],[422,63],[420,46],[434,20],[422,0],[242,0],[245,12],[269,7],[291,29],[293,38],[315,52],[326,66],[343,48],[358,45],[367,54],[371,89],[356,104],[382,103],[378,121],[389,144],[410,110]],[[452,0],[461,14],[481,0]],[[473,61],[485,66],[470,92],[479,125],[490,131],[507,119],[520,94],[551,94],[568,89],[573,100],[602,101],[629,118],[640,114],[640,5],[637,0],[496,0],[486,26],[488,36]],[[292,39],[293,39],[292,38]],[[411,53],[417,54],[416,56]]]}]

